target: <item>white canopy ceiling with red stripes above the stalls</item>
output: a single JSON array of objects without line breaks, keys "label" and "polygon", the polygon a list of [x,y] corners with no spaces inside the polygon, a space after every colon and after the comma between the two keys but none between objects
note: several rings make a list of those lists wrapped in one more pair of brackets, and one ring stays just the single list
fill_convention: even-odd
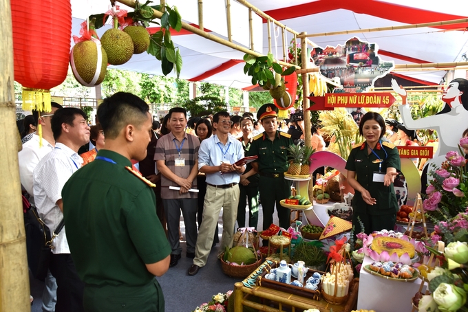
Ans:
[{"label": "white canopy ceiling with red stripes above the stalls", "polygon": [[[233,1],[235,0],[231,0]],[[427,0],[251,0],[249,2],[292,30],[308,34],[449,21],[464,19],[468,16],[468,1],[466,0],[451,0],[443,3]],[[167,3],[178,6],[184,21],[198,25],[198,13],[193,14],[193,8],[197,8],[198,0],[173,0]],[[219,3],[224,3],[224,1],[204,0],[203,3],[205,30],[223,37],[226,26],[222,21],[226,12],[224,5],[219,5]],[[210,3],[216,5],[210,5]],[[103,13],[108,9],[109,1],[107,0],[72,0],[73,34],[79,36],[80,24],[86,16]],[[245,32],[242,27],[245,26],[244,21],[248,18],[248,14],[244,16],[242,10],[239,12],[231,19],[238,28],[233,38],[237,45],[245,47],[250,39],[248,32]],[[208,23],[209,19],[214,19],[215,23]],[[254,31],[255,49],[267,54],[267,24],[259,16],[254,19],[254,25],[255,23],[259,30],[262,29],[262,31]],[[98,35],[102,35],[109,27],[107,25],[98,30]],[[465,61],[462,55],[468,50],[468,32],[460,30],[464,27],[467,28],[468,23],[385,32],[317,36],[310,40],[317,46],[325,48],[328,45],[333,47],[343,45],[345,41],[356,36],[361,41],[376,43],[379,46],[377,53],[382,60],[394,60],[396,64],[449,63]],[[273,36],[275,32],[273,27],[271,32]],[[180,78],[236,88],[251,87],[251,79],[244,75],[242,70],[244,53],[184,30],[180,34],[176,32],[171,32],[171,34],[182,55],[183,67]],[[289,43],[291,39],[292,36],[288,34],[287,42]],[[277,39],[277,43],[273,39],[272,44],[275,58],[282,58],[281,36]],[[128,63],[115,68],[162,75],[160,61],[146,53],[135,55]],[[445,75],[445,71],[405,71],[401,74],[413,79],[438,83]]]}]

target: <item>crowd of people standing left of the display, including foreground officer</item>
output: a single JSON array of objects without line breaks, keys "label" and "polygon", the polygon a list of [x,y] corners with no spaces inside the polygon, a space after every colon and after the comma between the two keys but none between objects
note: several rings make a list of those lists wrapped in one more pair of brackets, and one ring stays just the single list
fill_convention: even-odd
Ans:
[{"label": "crowd of people standing left of the display, including foreground officer", "polygon": [[[264,104],[257,120],[226,111],[187,120],[175,107],[158,122],[125,92],[100,104],[94,126],[81,109],[54,102],[51,111],[34,111],[19,152],[23,194],[51,232],[65,221],[51,249],[43,311],[115,311],[122,304],[162,311],[154,276],[182,257],[181,212],[189,276],[219,243],[221,213],[220,254],[233,245],[236,224],[257,229],[260,198],[264,230],[275,207],[279,226],[288,228],[290,211],[279,205],[290,196],[287,132],[304,126],[280,122],[277,112]],[[92,148],[80,154],[89,140]]]}]

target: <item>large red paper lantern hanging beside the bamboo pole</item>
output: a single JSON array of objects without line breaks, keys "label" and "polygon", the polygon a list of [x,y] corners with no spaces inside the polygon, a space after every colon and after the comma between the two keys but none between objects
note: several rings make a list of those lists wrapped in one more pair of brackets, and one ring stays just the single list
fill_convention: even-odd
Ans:
[{"label": "large red paper lantern hanging beside the bamboo pole", "polygon": [[13,0],[11,8],[14,80],[35,93],[60,85],[70,58],[70,0]]}]

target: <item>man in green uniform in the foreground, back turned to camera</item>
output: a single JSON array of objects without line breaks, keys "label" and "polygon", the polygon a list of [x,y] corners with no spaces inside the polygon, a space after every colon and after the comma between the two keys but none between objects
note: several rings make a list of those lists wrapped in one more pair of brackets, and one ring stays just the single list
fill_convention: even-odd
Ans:
[{"label": "man in green uniform in the foreground, back turned to camera", "polygon": [[171,246],[154,209],[153,183],[131,168],[150,142],[148,105],[118,92],[98,108],[105,148],[63,187],[70,252],[85,282],[85,311],[164,311],[154,276],[169,269]]}]

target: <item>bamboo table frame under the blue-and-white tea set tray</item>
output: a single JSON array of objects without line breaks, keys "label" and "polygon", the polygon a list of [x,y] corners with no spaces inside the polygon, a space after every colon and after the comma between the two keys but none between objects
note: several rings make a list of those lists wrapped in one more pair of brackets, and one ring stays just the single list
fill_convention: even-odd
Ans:
[{"label": "bamboo table frame under the blue-and-white tea set tray", "polygon": [[[277,291],[274,289],[269,289],[261,286],[254,286],[253,288],[245,287],[242,282],[235,283],[235,302],[234,302],[234,311],[242,311],[242,307],[252,307],[259,311],[284,311],[283,307],[295,307],[297,309],[307,310],[307,309],[319,309],[321,312],[350,312],[356,307],[357,302],[357,291],[359,289],[359,278],[355,278],[352,288],[350,289],[350,298],[345,304],[337,305],[330,304],[325,300],[321,299],[320,301],[304,298],[297,295],[292,295],[284,291]],[[259,298],[264,298],[275,302],[278,306],[278,309],[272,308],[266,304],[260,304],[248,300],[248,295],[257,296]],[[293,310],[294,311],[294,310]],[[298,311],[298,310],[295,310]],[[380,312],[380,311],[379,311]]]}]

